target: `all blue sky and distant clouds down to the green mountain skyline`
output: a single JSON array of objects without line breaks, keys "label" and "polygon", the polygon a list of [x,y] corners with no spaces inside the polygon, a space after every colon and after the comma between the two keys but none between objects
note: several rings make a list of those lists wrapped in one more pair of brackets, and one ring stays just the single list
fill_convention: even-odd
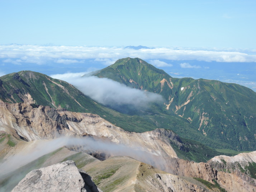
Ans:
[{"label": "all blue sky and distant clouds down to the green mountain skyline", "polygon": [[79,75],[139,57],[172,77],[256,91],[255,10],[255,0],[0,0],[0,76]]}]

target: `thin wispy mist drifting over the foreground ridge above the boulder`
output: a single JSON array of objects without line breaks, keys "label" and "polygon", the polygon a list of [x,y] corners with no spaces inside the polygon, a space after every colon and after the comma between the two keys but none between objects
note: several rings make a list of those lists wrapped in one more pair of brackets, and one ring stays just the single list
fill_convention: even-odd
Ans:
[{"label": "thin wispy mist drifting over the foreground ridge above the boulder", "polygon": [[66,147],[82,147],[83,150],[93,150],[103,152],[113,156],[129,156],[144,163],[151,164],[159,169],[165,170],[167,168],[166,161],[163,157],[155,153],[149,153],[147,149],[140,146],[131,148],[123,144],[116,144],[107,139],[90,138],[85,136],[83,138],[63,136],[51,140],[30,141],[34,148],[24,149],[18,154],[15,154],[0,164],[0,178],[4,178],[5,174],[15,171],[25,164],[42,157],[48,153],[53,152],[63,146]]}]

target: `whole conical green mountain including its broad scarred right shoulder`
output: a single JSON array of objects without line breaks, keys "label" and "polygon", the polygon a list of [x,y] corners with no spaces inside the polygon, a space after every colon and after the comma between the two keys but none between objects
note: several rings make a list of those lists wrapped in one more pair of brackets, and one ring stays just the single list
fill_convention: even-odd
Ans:
[{"label": "whole conical green mountain including its broad scarred right shoulder", "polygon": [[[226,143],[232,149],[256,150],[256,93],[249,88],[215,80],[172,78],[139,58],[119,59],[95,76],[161,94],[166,99],[165,110],[189,121],[205,139]],[[173,130],[181,136],[187,134],[179,128]],[[198,140],[213,147],[201,137]]]}]

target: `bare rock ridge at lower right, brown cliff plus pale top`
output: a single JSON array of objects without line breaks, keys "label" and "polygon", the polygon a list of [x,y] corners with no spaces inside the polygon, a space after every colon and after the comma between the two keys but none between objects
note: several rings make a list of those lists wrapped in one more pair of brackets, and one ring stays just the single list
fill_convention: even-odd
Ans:
[{"label": "bare rock ridge at lower right, brown cliff plus pale top", "polygon": [[[241,160],[243,165],[248,164],[248,162],[255,163],[255,153],[241,153],[234,157],[220,155],[209,160],[208,163],[195,163],[183,159],[170,158],[166,159],[168,165],[166,171],[177,176],[201,178],[212,184],[214,184],[215,180],[228,192],[254,192],[256,179],[243,173],[237,166],[237,161]],[[224,169],[225,164],[221,160],[220,162],[223,165],[222,169],[219,169],[219,165],[222,163],[216,162],[223,158],[227,160],[226,167],[233,167],[232,171]]]}]

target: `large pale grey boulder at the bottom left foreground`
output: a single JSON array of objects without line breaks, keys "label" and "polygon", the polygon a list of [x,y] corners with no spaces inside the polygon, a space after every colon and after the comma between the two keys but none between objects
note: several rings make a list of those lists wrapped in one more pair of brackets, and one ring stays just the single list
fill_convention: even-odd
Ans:
[{"label": "large pale grey boulder at the bottom left foreground", "polygon": [[12,192],[102,192],[91,177],[77,169],[74,161],[65,161],[29,172]]}]

